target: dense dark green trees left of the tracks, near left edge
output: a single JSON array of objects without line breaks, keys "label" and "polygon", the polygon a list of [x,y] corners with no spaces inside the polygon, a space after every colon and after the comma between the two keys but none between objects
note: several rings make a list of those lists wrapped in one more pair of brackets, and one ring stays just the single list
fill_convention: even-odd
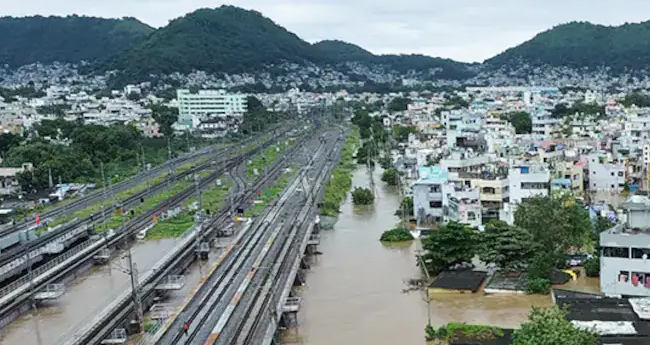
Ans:
[{"label": "dense dark green trees left of the tracks, near left edge", "polygon": [[[0,135],[0,141],[7,141],[9,147],[0,152],[5,158],[5,166],[34,165],[33,173],[19,176],[21,184],[28,190],[47,187],[50,171],[55,183],[60,178],[63,182],[101,184],[102,163],[107,177],[121,180],[141,169],[140,154],[143,151],[148,164],[160,164],[168,158],[165,139],[145,138],[133,126],[104,127],[57,119],[43,120],[34,130],[39,137],[22,143],[14,135]],[[52,143],[42,137],[70,140],[71,143]],[[186,140],[173,140],[171,143],[174,151],[187,149],[189,144]]]}]

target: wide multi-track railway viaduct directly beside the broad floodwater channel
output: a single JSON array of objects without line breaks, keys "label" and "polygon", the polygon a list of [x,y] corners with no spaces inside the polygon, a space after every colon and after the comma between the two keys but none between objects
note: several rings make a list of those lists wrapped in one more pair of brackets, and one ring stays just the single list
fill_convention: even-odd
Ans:
[{"label": "wide multi-track railway viaduct directly beside the broad floodwater channel", "polygon": [[[298,162],[302,168],[282,197],[230,244],[216,270],[154,337],[157,344],[225,344],[261,329],[259,322],[251,325],[246,320],[257,319],[253,311],[258,297],[268,295],[263,291],[281,281],[276,278],[288,276],[288,258],[302,254],[295,244],[316,214],[315,196],[329,176],[329,158],[338,152],[338,134],[328,133],[311,159]],[[185,322],[190,324],[187,336],[182,331]]]}]

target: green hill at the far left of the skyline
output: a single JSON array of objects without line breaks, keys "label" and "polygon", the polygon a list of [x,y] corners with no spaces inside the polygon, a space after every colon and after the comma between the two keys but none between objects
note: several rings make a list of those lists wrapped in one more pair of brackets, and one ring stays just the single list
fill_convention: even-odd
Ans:
[{"label": "green hill at the far left of the skyline", "polygon": [[0,18],[0,64],[95,61],[132,47],[153,32],[134,18]]}]

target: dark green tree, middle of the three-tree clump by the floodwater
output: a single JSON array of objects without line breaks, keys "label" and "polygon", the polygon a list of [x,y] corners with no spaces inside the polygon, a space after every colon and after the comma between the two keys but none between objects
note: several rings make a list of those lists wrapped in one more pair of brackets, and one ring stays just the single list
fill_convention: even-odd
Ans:
[{"label": "dark green tree, middle of the three-tree clump by the floodwater", "polygon": [[483,262],[505,271],[523,269],[535,253],[533,236],[503,221],[491,221],[485,226],[477,249]]}]

